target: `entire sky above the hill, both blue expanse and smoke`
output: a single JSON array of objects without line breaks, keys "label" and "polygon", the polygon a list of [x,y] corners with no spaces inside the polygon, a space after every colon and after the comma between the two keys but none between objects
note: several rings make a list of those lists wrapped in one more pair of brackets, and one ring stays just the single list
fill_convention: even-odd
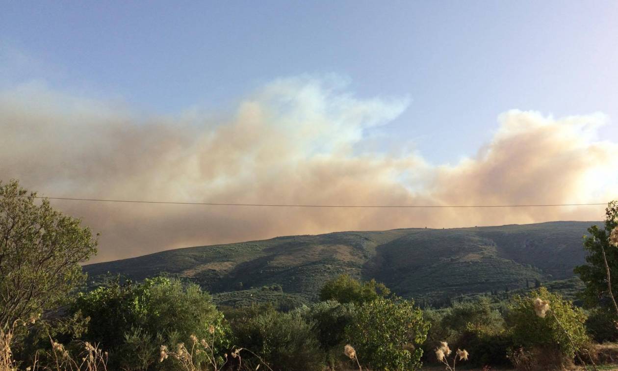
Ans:
[{"label": "entire sky above the hill, both blue expanse and smoke", "polygon": [[[478,205],[618,198],[615,1],[3,1],[0,179],[50,197]],[[603,207],[54,202],[96,260]]]}]

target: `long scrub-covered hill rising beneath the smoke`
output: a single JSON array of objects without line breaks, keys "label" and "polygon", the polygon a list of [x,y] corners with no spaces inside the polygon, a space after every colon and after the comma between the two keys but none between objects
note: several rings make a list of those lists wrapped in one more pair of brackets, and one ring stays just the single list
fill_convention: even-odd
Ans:
[{"label": "long scrub-covered hill rising beneath the smoke", "polygon": [[[508,296],[536,284],[576,291],[585,262],[582,236],[595,221],[454,229],[393,229],[277,237],[188,247],[86,265],[89,283],[166,274],[198,283],[226,305],[316,299],[328,279],[375,278],[418,304],[448,304],[473,294]],[[109,272],[109,275],[108,275]],[[563,281],[566,280],[566,281]],[[286,304],[287,303],[287,304]]]}]

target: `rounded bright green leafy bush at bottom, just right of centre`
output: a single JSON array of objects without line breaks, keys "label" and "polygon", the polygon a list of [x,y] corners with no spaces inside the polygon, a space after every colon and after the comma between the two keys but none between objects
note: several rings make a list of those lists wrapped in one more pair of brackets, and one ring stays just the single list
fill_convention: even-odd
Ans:
[{"label": "rounded bright green leafy bush at bottom, just right of centre", "polygon": [[421,366],[429,323],[412,301],[379,298],[360,307],[345,338],[358,360],[373,369],[410,370]]}]

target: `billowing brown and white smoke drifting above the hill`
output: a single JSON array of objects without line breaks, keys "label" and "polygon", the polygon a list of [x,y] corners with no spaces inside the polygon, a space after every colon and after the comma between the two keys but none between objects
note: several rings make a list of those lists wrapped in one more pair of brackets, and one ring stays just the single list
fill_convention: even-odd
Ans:
[{"label": "billowing brown and white smoke drifting above the hill", "polygon": [[[276,80],[232,113],[145,116],[40,85],[0,93],[0,179],[50,197],[317,205],[501,205],[618,198],[601,114],[499,116],[454,166],[365,148],[406,100],[358,99],[336,78]],[[599,220],[603,207],[267,208],[53,201],[101,232],[95,261],[289,234]]]}]

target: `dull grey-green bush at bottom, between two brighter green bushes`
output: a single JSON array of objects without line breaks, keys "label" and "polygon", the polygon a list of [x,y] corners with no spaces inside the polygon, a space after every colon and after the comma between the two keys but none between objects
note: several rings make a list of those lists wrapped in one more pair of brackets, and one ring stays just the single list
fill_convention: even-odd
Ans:
[{"label": "dull grey-green bush at bottom, between two brighter green bushes", "polygon": [[[281,313],[270,309],[245,322],[233,323],[238,345],[260,356],[273,370],[321,370],[324,352],[315,335],[313,322],[300,312]],[[245,359],[246,357],[246,359]],[[243,356],[243,364],[259,364]]]}]

